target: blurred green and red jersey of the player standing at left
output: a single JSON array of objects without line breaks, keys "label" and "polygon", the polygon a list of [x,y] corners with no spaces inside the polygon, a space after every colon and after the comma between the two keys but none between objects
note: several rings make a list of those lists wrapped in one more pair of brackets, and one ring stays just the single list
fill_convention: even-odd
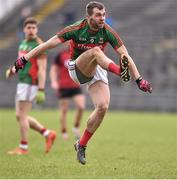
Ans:
[{"label": "blurred green and red jersey of the player standing at left", "polygon": [[[18,57],[24,56],[29,51],[34,49],[36,46],[42,43],[42,40],[40,38],[35,38],[32,40],[23,40],[18,49]],[[43,54],[46,56],[46,54]],[[40,55],[41,57],[41,55]],[[38,65],[37,65],[37,57],[33,57],[29,59],[27,64],[23,69],[20,69],[18,72],[18,78],[20,83],[26,83],[26,84],[38,84]]]}]

